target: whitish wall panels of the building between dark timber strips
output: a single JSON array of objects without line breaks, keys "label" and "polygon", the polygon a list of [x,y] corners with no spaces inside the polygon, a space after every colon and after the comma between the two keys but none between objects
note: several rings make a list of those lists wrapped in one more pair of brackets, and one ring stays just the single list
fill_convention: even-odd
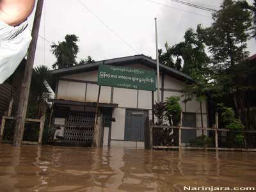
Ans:
[{"label": "whitish wall panels of the building between dark timber strips", "polygon": [[[143,68],[152,70],[138,63],[131,64],[129,67]],[[58,83],[58,95],[57,99],[74,100],[82,102],[97,102],[97,95],[99,92],[99,86],[97,83],[97,70],[92,72],[83,72],[80,74],[73,74],[70,76],[63,76],[65,79],[76,79],[86,81],[84,83],[70,82],[70,81],[59,81]],[[87,82],[90,81],[90,82]],[[92,83],[92,81],[94,83]],[[162,84],[162,77],[160,77],[160,85]],[[164,100],[170,96],[183,95],[182,89],[186,84],[173,77],[164,75]],[[113,116],[116,122],[112,122],[111,139],[112,140],[124,140],[124,129],[125,129],[125,109],[126,108],[137,108],[137,94],[138,95],[138,108],[148,109],[149,118],[152,118],[152,93],[143,90],[129,90],[124,88],[113,88],[113,103],[118,104],[118,108],[114,109]],[[161,95],[160,95],[161,99]],[[154,92],[154,100],[157,100],[157,92]],[[182,111],[185,111],[185,104],[182,102],[184,97],[180,99],[180,105]],[[111,88],[102,86],[100,92],[100,102],[110,103],[111,102]],[[204,113],[204,127],[207,127],[207,108],[206,101],[202,102],[202,109]],[[200,120],[200,104],[196,101],[195,97],[193,100],[186,104],[186,112],[196,113],[196,125],[201,127]],[[200,135],[200,133],[198,133]]]}]

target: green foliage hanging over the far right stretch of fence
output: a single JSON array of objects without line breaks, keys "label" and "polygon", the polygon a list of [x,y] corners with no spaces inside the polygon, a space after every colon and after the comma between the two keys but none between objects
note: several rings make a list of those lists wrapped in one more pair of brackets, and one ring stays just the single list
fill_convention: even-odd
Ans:
[{"label": "green foliage hanging over the far right stretch of fence", "polygon": [[236,118],[236,114],[232,108],[227,108],[224,104],[218,104],[218,109],[221,112],[221,122],[225,125],[226,129],[233,129],[237,132],[235,133],[234,141],[237,144],[242,145],[244,143],[243,129],[244,125],[241,120]]}]

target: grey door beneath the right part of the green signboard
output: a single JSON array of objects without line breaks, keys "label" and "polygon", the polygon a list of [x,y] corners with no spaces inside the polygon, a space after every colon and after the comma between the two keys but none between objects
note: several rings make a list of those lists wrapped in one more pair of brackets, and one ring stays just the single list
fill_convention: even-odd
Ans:
[{"label": "grey door beneath the right part of the green signboard", "polygon": [[126,109],[125,141],[144,141],[144,127],[147,125],[148,111]]}]

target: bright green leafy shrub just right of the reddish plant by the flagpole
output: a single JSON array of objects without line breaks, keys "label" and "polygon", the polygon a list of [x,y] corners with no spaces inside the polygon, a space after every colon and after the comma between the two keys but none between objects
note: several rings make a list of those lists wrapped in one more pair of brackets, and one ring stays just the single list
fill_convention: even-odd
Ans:
[{"label": "bright green leafy shrub just right of the reddish plant by the flagpole", "polygon": [[179,104],[180,97],[168,97],[166,98],[166,113],[164,116],[169,120],[170,125],[177,126],[180,123],[180,113],[182,108]]}]

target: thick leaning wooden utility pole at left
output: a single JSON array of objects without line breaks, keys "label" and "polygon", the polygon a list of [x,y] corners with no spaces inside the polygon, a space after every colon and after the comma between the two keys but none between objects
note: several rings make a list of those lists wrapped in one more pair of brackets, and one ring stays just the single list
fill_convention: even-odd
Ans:
[{"label": "thick leaning wooden utility pole at left", "polygon": [[15,132],[14,132],[14,138],[13,138],[13,146],[15,147],[20,147],[22,143],[23,133],[24,133],[31,76],[33,72],[36,44],[37,44],[38,33],[40,28],[43,5],[44,5],[44,0],[37,1],[35,19],[34,19],[33,29],[32,29],[32,40],[28,49],[28,59],[26,62],[24,77],[22,79],[20,102],[19,102],[19,108],[17,112],[16,123],[15,123]]}]

